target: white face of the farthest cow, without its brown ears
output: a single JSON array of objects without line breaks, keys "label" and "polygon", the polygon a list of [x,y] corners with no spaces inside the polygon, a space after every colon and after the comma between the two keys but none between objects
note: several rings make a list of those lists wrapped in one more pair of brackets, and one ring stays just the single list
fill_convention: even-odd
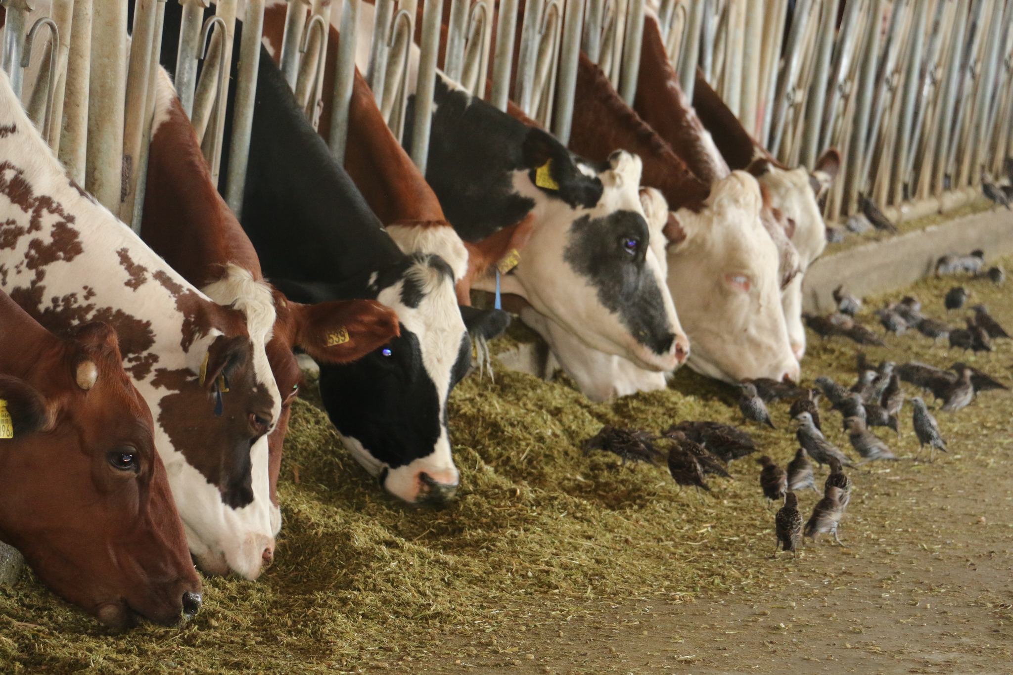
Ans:
[{"label": "white face of the farthest cow, without its brown ears", "polygon": [[791,170],[771,166],[760,176],[770,194],[771,205],[778,208],[795,224],[791,243],[798,251],[801,273],[782,290],[782,305],[787,322],[791,348],[796,358],[805,353],[805,328],[802,325],[802,277],[813,260],[827,247],[827,228],[824,224],[816,195],[812,191],[809,174],[804,168]]}]

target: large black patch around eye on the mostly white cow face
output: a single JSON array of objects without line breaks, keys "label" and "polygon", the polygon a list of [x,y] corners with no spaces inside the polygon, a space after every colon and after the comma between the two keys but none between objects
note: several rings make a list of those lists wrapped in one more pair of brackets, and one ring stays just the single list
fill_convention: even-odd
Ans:
[{"label": "large black patch around eye on the mostly white cow face", "polygon": [[[647,223],[633,212],[595,220],[585,216],[570,226],[563,260],[597,288],[599,302],[619,316],[637,342],[664,354],[675,335],[661,289],[645,262],[649,237]],[[629,240],[637,242],[635,252],[627,249]]]}]

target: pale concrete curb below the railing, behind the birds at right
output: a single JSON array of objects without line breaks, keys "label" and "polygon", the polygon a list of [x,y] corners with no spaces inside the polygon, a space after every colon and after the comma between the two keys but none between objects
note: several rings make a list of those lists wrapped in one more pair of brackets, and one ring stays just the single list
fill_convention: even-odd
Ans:
[{"label": "pale concrete curb below the railing, behind the birds at right", "polygon": [[802,305],[833,312],[831,293],[842,283],[859,298],[901,288],[931,274],[940,256],[975,249],[989,260],[1013,253],[1013,213],[994,208],[824,256],[805,272]]}]

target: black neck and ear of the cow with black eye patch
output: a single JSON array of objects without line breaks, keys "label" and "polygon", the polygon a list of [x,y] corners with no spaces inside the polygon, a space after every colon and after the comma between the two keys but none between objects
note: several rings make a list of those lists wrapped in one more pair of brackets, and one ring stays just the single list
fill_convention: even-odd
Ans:
[{"label": "black neck and ear of the cow with black eye patch", "polygon": [[[535,170],[552,160],[552,177],[558,190],[542,188],[547,195],[571,207],[598,203],[602,183],[583,175],[574,156],[546,132],[528,126],[505,112],[452,90],[438,77],[425,180],[440,199],[447,220],[462,239],[478,242],[492,233],[520,223],[535,200],[514,189],[513,172]],[[408,118],[414,96],[408,100]],[[411,147],[410,125],[402,144]],[[591,164],[590,162],[585,162]]]}]

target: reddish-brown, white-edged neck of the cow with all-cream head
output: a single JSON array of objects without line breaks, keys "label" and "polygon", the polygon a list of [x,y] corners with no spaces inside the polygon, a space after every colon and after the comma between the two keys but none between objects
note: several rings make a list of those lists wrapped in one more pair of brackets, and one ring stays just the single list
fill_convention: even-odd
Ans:
[{"label": "reddish-brown, white-edged neck of the cow with all-cream head", "polygon": [[633,108],[701,180],[712,183],[730,173],[679,87],[679,77],[669,61],[653,16],[644,18]]}]

